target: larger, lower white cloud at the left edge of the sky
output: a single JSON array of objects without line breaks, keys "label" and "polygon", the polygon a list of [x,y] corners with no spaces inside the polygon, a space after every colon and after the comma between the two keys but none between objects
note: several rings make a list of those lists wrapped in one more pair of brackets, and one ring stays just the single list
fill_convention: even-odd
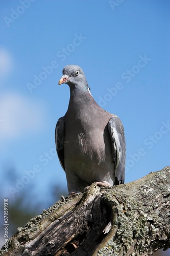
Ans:
[{"label": "larger, lower white cloud at the left edge of the sky", "polygon": [[37,133],[45,125],[42,103],[30,101],[19,94],[0,98],[0,137],[11,139]]}]

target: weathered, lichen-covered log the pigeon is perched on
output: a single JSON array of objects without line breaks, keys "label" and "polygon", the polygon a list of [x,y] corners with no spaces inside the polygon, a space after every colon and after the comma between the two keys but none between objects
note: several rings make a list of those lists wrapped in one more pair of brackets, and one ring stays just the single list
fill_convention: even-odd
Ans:
[{"label": "weathered, lichen-covered log the pigeon is perched on", "polygon": [[18,228],[0,255],[150,255],[170,248],[169,184],[170,166],[110,188],[93,183]]}]

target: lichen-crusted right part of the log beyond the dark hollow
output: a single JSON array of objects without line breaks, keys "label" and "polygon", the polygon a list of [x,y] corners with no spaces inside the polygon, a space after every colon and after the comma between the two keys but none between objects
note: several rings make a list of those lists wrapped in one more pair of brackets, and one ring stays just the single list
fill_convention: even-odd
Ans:
[{"label": "lichen-crusted right part of the log beyond the dark hollow", "polygon": [[170,247],[169,172],[165,167],[118,189],[102,191],[115,214],[111,238],[97,248],[98,255],[149,255]]}]

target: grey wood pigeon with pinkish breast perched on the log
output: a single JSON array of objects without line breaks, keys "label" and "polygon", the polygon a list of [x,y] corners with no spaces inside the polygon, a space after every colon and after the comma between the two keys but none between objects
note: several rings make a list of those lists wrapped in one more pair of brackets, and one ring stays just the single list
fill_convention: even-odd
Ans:
[{"label": "grey wood pigeon with pinkish breast perched on the log", "polygon": [[70,100],[56,125],[55,141],[69,194],[93,182],[124,183],[125,135],[120,119],[93,99],[83,70],[69,65],[59,84],[67,83]]}]

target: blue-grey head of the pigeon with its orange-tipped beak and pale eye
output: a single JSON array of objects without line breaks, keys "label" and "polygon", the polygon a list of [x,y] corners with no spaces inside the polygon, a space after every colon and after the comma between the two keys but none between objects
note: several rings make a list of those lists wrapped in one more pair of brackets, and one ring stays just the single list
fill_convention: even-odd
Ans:
[{"label": "blue-grey head of the pigeon with its orange-tipped beak and pale eye", "polygon": [[63,76],[58,84],[67,83],[70,88],[88,88],[85,74],[83,70],[77,65],[67,65],[63,69]]}]

